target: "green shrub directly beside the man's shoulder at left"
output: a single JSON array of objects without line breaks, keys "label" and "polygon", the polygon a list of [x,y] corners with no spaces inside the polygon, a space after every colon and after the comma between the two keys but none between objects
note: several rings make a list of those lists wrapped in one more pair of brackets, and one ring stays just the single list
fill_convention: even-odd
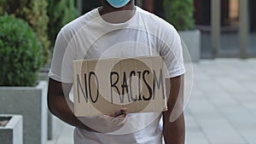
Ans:
[{"label": "green shrub directly beside the man's shoulder at left", "polygon": [[48,0],[49,15],[49,40],[51,47],[55,44],[55,38],[61,27],[79,16],[78,10],[74,7],[73,0]]}]

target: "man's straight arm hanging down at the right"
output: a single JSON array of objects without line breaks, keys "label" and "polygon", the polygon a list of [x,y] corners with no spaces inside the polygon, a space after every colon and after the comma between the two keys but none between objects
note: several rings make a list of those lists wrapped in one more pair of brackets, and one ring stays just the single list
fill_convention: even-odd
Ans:
[{"label": "man's straight arm hanging down at the right", "polygon": [[[168,111],[163,112],[163,135],[166,144],[184,144],[185,141],[185,123],[183,117],[183,81],[183,76],[170,78],[171,85],[167,86],[167,90],[170,91],[167,102]],[[178,114],[178,117],[174,119],[173,122],[170,121],[172,112],[175,112],[175,115]]]}]

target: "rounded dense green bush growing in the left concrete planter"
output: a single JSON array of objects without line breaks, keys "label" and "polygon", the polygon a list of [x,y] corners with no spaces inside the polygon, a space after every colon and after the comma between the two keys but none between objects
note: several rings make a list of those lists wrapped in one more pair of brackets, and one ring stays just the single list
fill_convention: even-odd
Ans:
[{"label": "rounded dense green bush growing in the left concrete planter", "polygon": [[0,86],[33,86],[44,56],[38,37],[26,21],[0,16]]}]

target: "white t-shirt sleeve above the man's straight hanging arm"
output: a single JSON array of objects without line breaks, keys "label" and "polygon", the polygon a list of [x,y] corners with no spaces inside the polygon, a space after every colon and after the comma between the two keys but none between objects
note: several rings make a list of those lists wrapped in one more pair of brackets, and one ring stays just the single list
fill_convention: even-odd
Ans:
[{"label": "white t-shirt sleeve above the man's straight hanging arm", "polygon": [[164,29],[160,55],[165,58],[165,78],[175,78],[185,72],[183,47],[177,31],[172,25],[168,24]]}]

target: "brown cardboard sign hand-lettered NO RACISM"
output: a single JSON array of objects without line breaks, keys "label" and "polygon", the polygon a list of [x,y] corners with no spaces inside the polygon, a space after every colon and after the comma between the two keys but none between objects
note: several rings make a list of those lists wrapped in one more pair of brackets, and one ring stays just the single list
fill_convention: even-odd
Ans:
[{"label": "brown cardboard sign hand-lettered NO RACISM", "polygon": [[164,61],[160,56],[73,61],[74,114],[166,111]]}]

